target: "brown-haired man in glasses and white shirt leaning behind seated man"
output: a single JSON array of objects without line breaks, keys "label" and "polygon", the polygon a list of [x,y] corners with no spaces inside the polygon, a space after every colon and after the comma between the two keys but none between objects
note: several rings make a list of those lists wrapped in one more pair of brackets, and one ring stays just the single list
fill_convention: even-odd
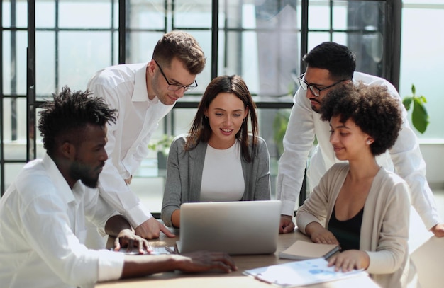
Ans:
[{"label": "brown-haired man in glasses and white shirt leaning behind seated man", "polygon": [[[148,154],[148,142],[158,122],[170,112],[186,91],[197,87],[196,75],[206,58],[192,35],[166,33],[155,45],[150,62],[121,64],[98,71],[87,90],[104,98],[118,110],[117,121],[108,126],[106,152],[109,159],[99,178],[101,196],[121,212],[143,238],[158,238],[160,231],[174,237],[152,217],[131,191],[133,173]],[[89,235],[90,248],[104,243]]]}]

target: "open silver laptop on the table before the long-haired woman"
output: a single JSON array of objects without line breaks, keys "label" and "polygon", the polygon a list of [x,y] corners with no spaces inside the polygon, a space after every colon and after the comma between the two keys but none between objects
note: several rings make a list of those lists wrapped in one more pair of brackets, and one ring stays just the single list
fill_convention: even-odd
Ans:
[{"label": "open silver laptop on the table before the long-haired woman", "polygon": [[179,253],[270,254],[277,249],[281,202],[191,202],[180,207]]}]

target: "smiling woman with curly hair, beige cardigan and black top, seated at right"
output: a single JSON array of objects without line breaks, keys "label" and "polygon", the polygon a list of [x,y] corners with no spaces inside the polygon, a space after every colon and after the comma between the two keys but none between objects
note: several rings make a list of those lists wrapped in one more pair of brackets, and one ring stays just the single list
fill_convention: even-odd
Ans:
[{"label": "smiling woman with curly hair, beige cardigan and black top, seated at right", "polygon": [[345,84],[328,93],[336,158],[296,214],[299,231],[316,243],[341,247],[328,259],[336,270],[364,269],[382,287],[405,287],[409,272],[409,186],[377,164],[401,128],[396,98],[384,86]]}]

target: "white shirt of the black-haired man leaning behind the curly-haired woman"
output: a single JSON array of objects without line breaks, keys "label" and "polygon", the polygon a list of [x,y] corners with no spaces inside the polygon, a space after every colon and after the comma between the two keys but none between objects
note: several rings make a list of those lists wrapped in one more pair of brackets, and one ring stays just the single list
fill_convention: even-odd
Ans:
[{"label": "white shirt of the black-haired man leaning behind the curly-haired woman", "polygon": [[[360,72],[355,72],[353,81],[387,86],[389,93],[393,97],[399,98],[403,120],[401,131],[392,149],[377,156],[377,162],[389,171],[395,171],[406,180],[411,190],[412,205],[421,216],[427,229],[431,229],[435,224],[441,222],[440,216],[436,209],[433,193],[426,180],[426,163],[419,149],[418,139],[409,125],[407,112],[402,105],[398,91],[389,81]],[[330,143],[328,121],[322,121],[321,114],[311,109],[310,100],[306,98],[306,91],[299,88],[294,96],[294,105],[283,140],[285,151],[279,159],[277,196],[279,200],[282,200],[282,214],[293,215],[294,213],[315,134],[318,145],[309,159],[307,169],[311,190],[318,185],[328,168],[340,161],[336,159],[333,146]]]}]

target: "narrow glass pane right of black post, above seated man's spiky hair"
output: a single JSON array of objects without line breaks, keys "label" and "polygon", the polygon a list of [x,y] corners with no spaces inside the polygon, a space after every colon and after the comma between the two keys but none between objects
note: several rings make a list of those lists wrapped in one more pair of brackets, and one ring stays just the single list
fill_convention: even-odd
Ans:
[{"label": "narrow glass pane right of black post, above seated man's spiky hair", "polygon": [[[35,93],[45,97],[55,93],[55,33],[35,32]],[[42,99],[39,99],[42,100]]]}]

